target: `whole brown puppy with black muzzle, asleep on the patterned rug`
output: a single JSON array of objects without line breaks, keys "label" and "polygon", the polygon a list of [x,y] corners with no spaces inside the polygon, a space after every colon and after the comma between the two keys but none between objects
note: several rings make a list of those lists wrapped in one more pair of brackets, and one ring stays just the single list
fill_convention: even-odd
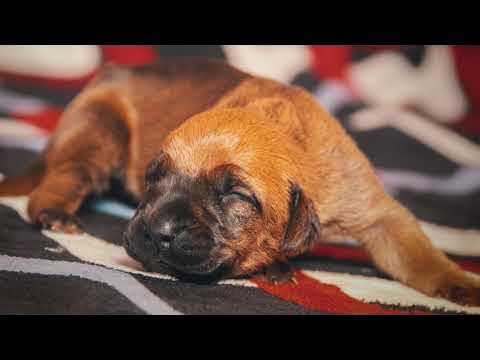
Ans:
[{"label": "whole brown puppy with black muzzle, asleep on the patterned rug", "polygon": [[107,66],[67,108],[38,166],[0,195],[30,193],[36,223],[75,232],[84,198],[113,176],[140,202],[125,246],[147,269],[238,277],[349,236],[393,278],[480,305],[478,279],[431,245],[299,88],[197,58]]}]

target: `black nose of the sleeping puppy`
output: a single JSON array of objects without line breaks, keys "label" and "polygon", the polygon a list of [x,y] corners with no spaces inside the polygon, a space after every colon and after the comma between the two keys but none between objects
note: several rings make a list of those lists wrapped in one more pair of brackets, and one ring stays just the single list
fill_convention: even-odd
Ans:
[{"label": "black nose of the sleeping puppy", "polygon": [[189,204],[177,199],[154,211],[146,228],[152,239],[168,244],[193,224],[195,218]]}]

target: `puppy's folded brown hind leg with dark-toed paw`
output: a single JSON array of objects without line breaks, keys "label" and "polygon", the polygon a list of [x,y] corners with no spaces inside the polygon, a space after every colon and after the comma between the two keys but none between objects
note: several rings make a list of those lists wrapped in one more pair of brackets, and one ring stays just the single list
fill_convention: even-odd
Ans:
[{"label": "puppy's folded brown hind leg with dark-toed paw", "polygon": [[[44,229],[81,232],[76,211],[92,192],[101,192],[128,148],[128,129],[111,109],[90,104],[69,111],[76,127],[60,134],[46,154],[46,172],[30,194],[30,219]],[[64,130],[65,131],[65,130]]]}]

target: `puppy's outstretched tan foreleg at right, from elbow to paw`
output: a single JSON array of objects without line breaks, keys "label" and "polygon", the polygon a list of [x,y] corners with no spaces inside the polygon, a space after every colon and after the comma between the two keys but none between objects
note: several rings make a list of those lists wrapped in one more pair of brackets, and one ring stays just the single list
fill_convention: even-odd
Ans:
[{"label": "puppy's outstretched tan foreleg at right, from elbow to paw", "polygon": [[429,296],[480,305],[480,280],[434,248],[407,209],[387,198],[382,213],[355,234],[381,270]]}]

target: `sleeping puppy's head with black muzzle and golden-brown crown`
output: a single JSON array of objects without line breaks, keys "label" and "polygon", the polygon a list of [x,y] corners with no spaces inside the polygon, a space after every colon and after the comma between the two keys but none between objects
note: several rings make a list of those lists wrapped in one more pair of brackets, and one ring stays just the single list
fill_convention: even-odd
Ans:
[{"label": "sleeping puppy's head with black muzzle and golden-brown crown", "polygon": [[165,140],[125,233],[148,270],[251,274],[305,250],[319,230],[282,131],[247,110],[197,115]]}]

